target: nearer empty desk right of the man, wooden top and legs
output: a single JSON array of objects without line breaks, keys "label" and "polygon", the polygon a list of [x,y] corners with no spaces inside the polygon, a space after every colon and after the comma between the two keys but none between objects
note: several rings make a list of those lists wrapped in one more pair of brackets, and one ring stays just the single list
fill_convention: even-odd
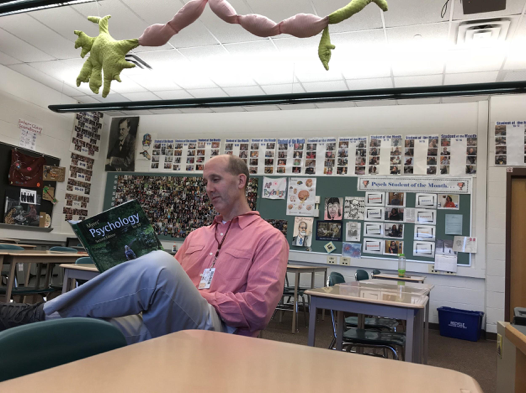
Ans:
[{"label": "nearer empty desk right of the man, wooden top and legs", "polygon": [[316,309],[325,308],[338,312],[336,348],[342,349],[344,329],[343,312],[407,321],[405,360],[420,363],[423,351],[423,316],[428,297],[422,294],[394,292],[360,281],[339,284],[332,287],[309,289],[305,292],[311,298],[308,345],[314,346],[316,337]]}]

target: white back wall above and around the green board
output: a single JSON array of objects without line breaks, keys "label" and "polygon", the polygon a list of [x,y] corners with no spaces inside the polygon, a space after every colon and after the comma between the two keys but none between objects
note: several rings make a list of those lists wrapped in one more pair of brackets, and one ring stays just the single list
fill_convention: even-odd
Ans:
[{"label": "white back wall above and around the green board", "polygon": [[[389,102],[385,103],[386,105]],[[291,107],[293,108],[293,106]],[[372,134],[419,135],[431,133],[474,133],[479,135],[479,151],[487,149],[488,102],[388,105],[374,107],[292,109],[238,113],[166,114],[141,116],[140,131],[158,137],[177,138],[286,138],[339,137]],[[472,218],[473,236],[484,244],[486,237],[486,157],[478,158],[479,174],[474,180]],[[148,162],[137,161],[136,170],[148,172]],[[152,172],[153,173],[153,172]],[[170,247],[172,242],[164,242]],[[293,251],[290,260],[299,263],[326,263],[327,254]],[[457,276],[427,274],[426,263],[408,263],[408,270],[426,275],[426,282],[435,285],[431,296],[431,321],[438,322],[437,307],[450,306],[485,311],[485,248],[472,258],[472,266],[459,267]],[[358,268],[371,271],[379,268],[394,272],[394,259],[353,259],[352,266],[330,267],[347,281],[354,280]],[[292,277],[291,277],[292,279]],[[310,284],[305,275],[302,285]],[[318,275],[316,285],[323,285]]]}]

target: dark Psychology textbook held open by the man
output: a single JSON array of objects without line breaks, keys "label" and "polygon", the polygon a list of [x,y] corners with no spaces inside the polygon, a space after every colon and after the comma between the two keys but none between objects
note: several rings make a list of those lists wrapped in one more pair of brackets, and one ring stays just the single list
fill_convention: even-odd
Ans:
[{"label": "dark Psychology textbook held open by the man", "polygon": [[69,223],[101,273],[119,263],[163,249],[136,200]]}]

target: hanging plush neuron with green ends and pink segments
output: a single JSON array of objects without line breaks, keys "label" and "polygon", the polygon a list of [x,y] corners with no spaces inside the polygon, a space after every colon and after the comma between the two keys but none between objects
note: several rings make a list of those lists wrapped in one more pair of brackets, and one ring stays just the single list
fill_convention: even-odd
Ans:
[{"label": "hanging plush neuron with green ends and pink segments", "polygon": [[147,27],[138,39],[121,41],[114,40],[109,33],[110,15],[103,18],[90,16],[88,20],[99,25],[99,35],[90,37],[80,30],[75,30],[75,34],[79,37],[75,41],[75,48],[82,48],[80,56],[84,58],[91,52],[77,77],[77,86],[80,86],[82,82],[89,83],[90,89],[98,94],[102,86],[102,74],[104,74],[102,96],[106,97],[110,92],[111,81],[121,82],[122,70],[135,67],[133,63],[124,59],[130,50],[139,45],[161,46],[166,44],[175,34],[195,22],[203,13],[207,3],[212,11],[225,22],[239,24],[248,32],[259,37],[290,34],[298,38],[306,38],[323,31],[318,46],[318,56],[325,69],[328,70],[331,50],[336,48],[331,44],[329,25],[343,22],[371,2],[378,5],[383,11],[387,11],[386,0],[352,0],[345,7],[324,18],[313,14],[297,14],[280,23],[275,23],[262,15],[238,15],[227,0],[191,0],[168,23]]}]

